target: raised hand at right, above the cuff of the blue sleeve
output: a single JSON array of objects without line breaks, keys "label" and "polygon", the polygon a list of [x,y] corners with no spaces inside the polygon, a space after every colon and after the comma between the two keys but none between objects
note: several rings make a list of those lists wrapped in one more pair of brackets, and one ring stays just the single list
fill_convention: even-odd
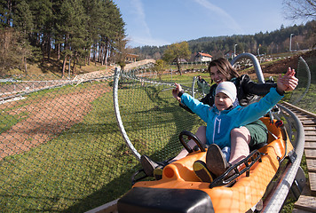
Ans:
[{"label": "raised hand at right, above the cuff of the blue sleeve", "polygon": [[288,72],[284,76],[279,75],[277,90],[282,92],[294,91],[298,83],[298,79],[295,77],[295,74],[295,69],[288,67]]}]

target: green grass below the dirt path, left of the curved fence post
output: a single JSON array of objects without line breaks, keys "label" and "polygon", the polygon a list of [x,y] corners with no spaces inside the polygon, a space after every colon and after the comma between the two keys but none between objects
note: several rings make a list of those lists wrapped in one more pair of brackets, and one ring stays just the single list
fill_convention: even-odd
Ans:
[{"label": "green grass below the dirt path, left of the curved fence post", "polygon": [[[119,138],[112,104],[105,105],[111,95],[108,92],[96,100],[84,121],[58,138],[27,153],[4,158],[0,167],[2,212],[66,210],[101,190],[115,178],[120,178],[124,173],[123,164],[116,161],[130,161],[130,166],[135,166],[135,158],[120,154],[127,149]],[[104,107],[100,107],[100,104]],[[104,117],[100,117],[100,114]],[[116,165],[116,168],[111,172],[109,165]],[[128,188],[130,185],[124,186]],[[112,201],[123,193],[115,187],[112,186],[112,191],[119,193],[106,192],[99,198],[102,200],[99,204]],[[84,209],[83,206],[78,208],[73,212]]]}]

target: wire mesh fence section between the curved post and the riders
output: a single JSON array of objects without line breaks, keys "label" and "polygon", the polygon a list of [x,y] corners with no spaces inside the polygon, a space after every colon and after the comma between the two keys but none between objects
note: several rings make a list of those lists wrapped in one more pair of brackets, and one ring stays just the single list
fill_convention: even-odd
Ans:
[{"label": "wire mesh fence section between the curved post and the riders", "polygon": [[[182,148],[178,135],[182,130],[196,131],[201,120],[188,114],[172,97],[174,83],[159,82],[140,73],[122,73],[118,99],[122,123],[130,142],[139,154],[152,155],[162,161],[178,154]],[[192,83],[191,83],[192,84]],[[185,86],[191,92],[191,87]]]}]

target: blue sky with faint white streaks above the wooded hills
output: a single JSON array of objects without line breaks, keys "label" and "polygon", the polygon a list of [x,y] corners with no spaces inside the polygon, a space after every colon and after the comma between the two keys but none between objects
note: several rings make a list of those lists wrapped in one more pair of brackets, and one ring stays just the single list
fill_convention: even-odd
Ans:
[{"label": "blue sky with faint white streaks above the wooded hills", "polygon": [[282,0],[114,0],[131,47],[162,46],[203,36],[255,35],[302,20],[286,20]]}]

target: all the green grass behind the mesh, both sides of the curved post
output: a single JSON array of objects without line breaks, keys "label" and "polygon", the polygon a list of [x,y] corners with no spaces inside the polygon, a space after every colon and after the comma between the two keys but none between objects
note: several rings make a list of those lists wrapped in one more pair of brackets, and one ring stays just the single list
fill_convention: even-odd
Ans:
[{"label": "all the green grass behind the mesh, both sides of the curved post", "polygon": [[[157,160],[177,154],[179,131],[194,132],[201,120],[178,107],[170,90],[126,85],[119,93],[120,110],[138,152]],[[75,89],[83,90],[65,87],[31,97],[51,99]],[[118,130],[112,92],[93,101],[83,122],[28,152],[5,157],[0,165],[2,212],[84,212],[127,192],[139,169]]]}]

